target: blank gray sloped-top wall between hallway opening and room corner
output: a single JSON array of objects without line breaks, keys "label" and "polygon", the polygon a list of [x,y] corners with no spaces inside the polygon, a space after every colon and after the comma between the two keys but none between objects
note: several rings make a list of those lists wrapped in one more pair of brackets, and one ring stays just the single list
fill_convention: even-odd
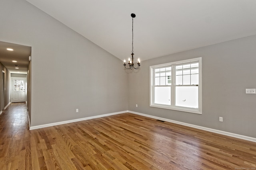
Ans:
[{"label": "blank gray sloped-top wall between hallway opening and room corner", "polygon": [[25,0],[1,0],[0,23],[0,41],[32,47],[31,126],[127,110],[121,60]]}]

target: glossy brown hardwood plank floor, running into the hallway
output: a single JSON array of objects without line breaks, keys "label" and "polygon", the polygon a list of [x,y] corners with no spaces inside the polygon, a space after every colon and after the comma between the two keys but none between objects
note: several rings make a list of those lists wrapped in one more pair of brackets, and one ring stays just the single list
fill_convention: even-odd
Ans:
[{"label": "glossy brown hardwood plank floor, running into the hallway", "polygon": [[131,113],[28,130],[0,115],[0,170],[255,170],[256,143]]}]

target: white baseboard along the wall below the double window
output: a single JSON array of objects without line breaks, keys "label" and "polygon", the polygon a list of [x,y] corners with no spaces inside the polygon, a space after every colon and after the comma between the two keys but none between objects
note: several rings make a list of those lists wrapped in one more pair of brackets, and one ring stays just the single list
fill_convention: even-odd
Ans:
[{"label": "white baseboard along the wall below the double window", "polygon": [[160,119],[160,120],[163,120],[163,121],[168,121],[168,122],[176,123],[176,124],[179,124],[179,125],[184,125],[184,126],[188,126],[188,127],[193,127],[193,128],[201,129],[201,130],[204,130],[204,131],[209,131],[209,132],[213,132],[213,133],[218,133],[218,134],[221,134],[221,135],[226,135],[226,136],[230,136],[230,137],[235,137],[235,138],[238,138],[238,139],[244,139],[244,140],[246,140],[246,141],[256,142],[256,138],[253,138],[253,137],[248,137],[248,136],[244,136],[244,135],[238,135],[238,134],[235,134],[235,133],[220,131],[220,130],[211,129],[211,128],[208,128],[208,127],[202,127],[202,126],[198,126],[198,125],[192,125],[192,124],[189,124],[189,123],[184,123],[184,122],[175,121],[175,120],[171,120],[171,119],[166,119],[166,118],[162,118],[162,117],[156,117],[156,116],[152,116],[152,115],[146,115],[146,114],[138,113],[138,112],[135,112],[135,111],[129,111],[129,110],[128,110],[127,112],[129,112],[129,113],[134,113],[134,114],[136,114],[136,115],[142,115],[142,116],[150,117],[150,118],[153,118],[153,119]]}]

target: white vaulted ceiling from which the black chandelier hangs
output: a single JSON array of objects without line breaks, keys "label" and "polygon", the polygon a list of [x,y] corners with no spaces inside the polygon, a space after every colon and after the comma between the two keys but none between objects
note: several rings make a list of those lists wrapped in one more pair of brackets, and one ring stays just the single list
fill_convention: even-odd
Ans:
[{"label": "white vaulted ceiling from which the black chandelier hangs", "polygon": [[26,0],[121,60],[256,35],[256,0]]}]

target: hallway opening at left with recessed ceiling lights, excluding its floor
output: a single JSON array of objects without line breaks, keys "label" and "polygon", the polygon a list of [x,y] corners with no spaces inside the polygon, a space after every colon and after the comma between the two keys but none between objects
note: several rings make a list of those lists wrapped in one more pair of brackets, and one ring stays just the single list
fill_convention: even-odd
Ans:
[{"label": "hallway opening at left with recessed ceiling lights, excluding its floor", "polygon": [[[6,109],[11,102],[26,102],[29,123],[31,117],[31,48],[27,45],[0,41],[0,69],[4,70],[4,74],[0,74],[2,81],[0,82],[0,113],[1,109]],[[26,74],[26,76],[20,74]],[[12,84],[12,77],[25,78],[23,85],[22,81],[16,81],[18,83],[16,91]]]}]

